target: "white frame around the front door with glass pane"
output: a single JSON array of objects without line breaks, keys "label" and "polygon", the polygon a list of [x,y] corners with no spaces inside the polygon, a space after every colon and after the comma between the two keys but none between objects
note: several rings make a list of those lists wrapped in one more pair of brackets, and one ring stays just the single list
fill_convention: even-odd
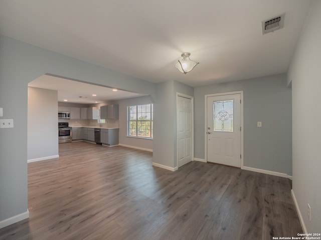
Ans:
[{"label": "white frame around the front door with glass pane", "polygon": [[222,93],[212,93],[212,94],[206,94],[205,95],[205,126],[204,126],[204,132],[205,132],[205,161],[207,161],[207,98],[211,96],[222,96],[222,95],[230,95],[230,94],[241,94],[241,104],[240,104],[240,118],[241,118],[241,169],[244,166],[244,152],[243,152],[243,142],[244,142],[244,127],[243,127],[243,91],[230,91],[230,92],[222,92]]}]

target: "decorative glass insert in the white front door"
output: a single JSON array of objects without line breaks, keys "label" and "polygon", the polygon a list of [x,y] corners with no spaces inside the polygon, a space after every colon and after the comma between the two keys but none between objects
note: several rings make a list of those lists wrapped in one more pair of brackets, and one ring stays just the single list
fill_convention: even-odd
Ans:
[{"label": "decorative glass insert in the white front door", "polygon": [[233,131],[233,100],[213,101],[214,131]]}]

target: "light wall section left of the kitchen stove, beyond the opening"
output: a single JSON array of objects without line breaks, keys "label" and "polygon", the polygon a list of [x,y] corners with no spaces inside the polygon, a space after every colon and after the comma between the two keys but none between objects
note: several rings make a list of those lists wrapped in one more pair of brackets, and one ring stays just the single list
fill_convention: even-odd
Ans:
[{"label": "light wall section left of the kitchen stove, beyond the opening", "polygon": [[28,160],[56,156],[58,91],[28,87]]}]

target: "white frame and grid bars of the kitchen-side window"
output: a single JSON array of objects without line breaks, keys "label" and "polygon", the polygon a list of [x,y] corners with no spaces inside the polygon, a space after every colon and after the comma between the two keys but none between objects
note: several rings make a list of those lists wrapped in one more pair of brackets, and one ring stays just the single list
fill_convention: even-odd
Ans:
[{"label": "white frame and grid bars of the kitchen-side window", "polygon": [[[146,110],[145,113],[147,113],[147,112],[150,113],[150,119],[147,119],[147,120],[138,119],[139,118],[138,117],[138,113],[143,113],[143,112],[138,112],[138,106],[147,106],[147,105],[149,105],[150,108],[149,108],[149,111]],[[130,114],[131,114],[130,108],[131,107],[135,107],[136,108],[136,111],[135,111],[136,117],[135,117],[135,119],[130,119]],[[136,129],[136,131],[135,131],[136,134],[135,135],[130,133],[131,129],[133,129],[133,128],[130,127],[131,122],[135,122],[135,128],[134,128],[134,129]],[[149,136],[146,136],[146,135],[141,136],[141,135],[138,134],[139,129],[141,129],[141,128],[138,127],[138,125],[139,125],[138,122],[140,122],[140,123],[149,122]],[[146,128],[144,128],[144,129],[146,129]],[[153,104],[152,103],[137,104],[137,105],[127,106],[127,136],[128,137],[145,138],[145,139],[153,139]]]}]

